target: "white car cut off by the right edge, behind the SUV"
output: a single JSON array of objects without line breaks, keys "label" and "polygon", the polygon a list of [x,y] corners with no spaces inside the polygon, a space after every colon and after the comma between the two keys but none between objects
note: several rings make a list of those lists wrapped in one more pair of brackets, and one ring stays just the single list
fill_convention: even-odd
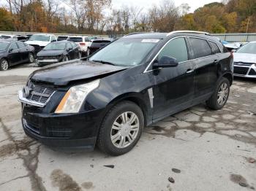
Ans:
[{"label": "white car cut off by the right edge, behind the SUV", "polygon": [[233,55],[234,76],[256,78],[256,42],[244,44]]}]

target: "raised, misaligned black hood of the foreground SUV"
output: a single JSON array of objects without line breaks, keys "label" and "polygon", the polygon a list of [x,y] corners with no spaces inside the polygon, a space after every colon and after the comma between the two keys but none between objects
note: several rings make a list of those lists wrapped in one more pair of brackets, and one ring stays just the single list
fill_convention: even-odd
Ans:
[{"label": "raised, misaligned black hood of the foreground SUV", "polygon": [[67,63],[57,63],[34,71],[30,79],[39,82],[49,82],[53,85],[67,85],[69,82],[90,79],[127,69],[123,66],[112,66],[91,61],[75,60]]}]

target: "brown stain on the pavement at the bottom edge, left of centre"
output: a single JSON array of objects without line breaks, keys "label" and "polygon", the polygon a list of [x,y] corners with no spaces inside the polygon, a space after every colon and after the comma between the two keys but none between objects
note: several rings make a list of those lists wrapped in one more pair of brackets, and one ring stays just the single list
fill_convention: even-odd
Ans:
[{"label": "brown stain on the pavement at the bottom edge, left of centre", "polygon": [[81,187],[76,183],[71,176],[64,174],[60,169],[54,170],[50,174],[50,179],[52,180],[53,187],[59,187],[60,191],[81,191]]}]

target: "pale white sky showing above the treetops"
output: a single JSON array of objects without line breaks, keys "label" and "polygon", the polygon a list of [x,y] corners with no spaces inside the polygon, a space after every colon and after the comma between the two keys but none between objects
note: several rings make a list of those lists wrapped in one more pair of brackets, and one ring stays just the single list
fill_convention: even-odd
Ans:
[{"label": "pale white sky showing above the treetops", "polygon": [[[199,7],[203,7],[205,4],[209,4],[212,2],[220,2],[221,0],[173,0],[176,7],[181,4],[189,4],[191,9],[189,12],[194,12],[195,9]],[[122,5],[133,5],[135,7],[143,7],[144,9],[148,9],[152,6],[152,4],[159,4],[161,0],[112,0],[113,7],[119,8]]]}]

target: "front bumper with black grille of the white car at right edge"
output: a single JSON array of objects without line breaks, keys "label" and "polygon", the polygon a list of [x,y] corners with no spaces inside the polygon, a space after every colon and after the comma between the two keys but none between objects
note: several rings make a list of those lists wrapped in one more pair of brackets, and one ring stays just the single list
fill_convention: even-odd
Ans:
[{"label": "front bumper with black grille of the white car at right edge", "polygon": [[234,65],[234,76],[256,78],[256,65],[242,66]]}]

